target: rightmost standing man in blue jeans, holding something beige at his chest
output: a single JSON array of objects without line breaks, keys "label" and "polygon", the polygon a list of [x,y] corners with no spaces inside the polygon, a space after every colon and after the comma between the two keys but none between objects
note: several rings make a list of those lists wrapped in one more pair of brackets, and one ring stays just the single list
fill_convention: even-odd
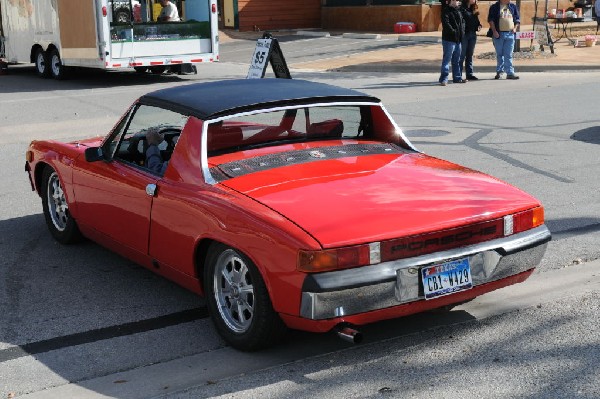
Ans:
[{"label": "rightmost standing man in blue jeans, holding something beige at his chest", "polygon": [[519,79],[513,67],[515,33],[519,28],[519,9],[510,0],[499,0],[492,4],[488,14],[492,29],[492,40],[496,49],[496,77],[500,79],[506,72],[506,79]]}]

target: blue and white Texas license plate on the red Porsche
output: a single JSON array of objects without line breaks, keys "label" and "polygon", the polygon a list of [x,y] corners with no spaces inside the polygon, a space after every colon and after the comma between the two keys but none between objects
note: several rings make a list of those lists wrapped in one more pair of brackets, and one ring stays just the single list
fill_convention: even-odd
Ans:
[{"label": "blue and white Texas license plate on the red Porsche", "polygon": [[424,267],[421,269],[421,279],[425,299],[434,299],[473,287],[467,258]]}]

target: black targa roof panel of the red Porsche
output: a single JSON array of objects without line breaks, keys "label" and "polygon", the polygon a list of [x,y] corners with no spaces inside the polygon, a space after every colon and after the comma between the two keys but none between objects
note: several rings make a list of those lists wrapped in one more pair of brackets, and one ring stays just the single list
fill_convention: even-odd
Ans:
[{"label": "black targa roof panel of the red Porsche", "polygon": [[297,79],[237,79],[195,83],[157,90],[140,98],[200,119],[212,119],[243,111],[313,102],[380,100],[359,91]]}]

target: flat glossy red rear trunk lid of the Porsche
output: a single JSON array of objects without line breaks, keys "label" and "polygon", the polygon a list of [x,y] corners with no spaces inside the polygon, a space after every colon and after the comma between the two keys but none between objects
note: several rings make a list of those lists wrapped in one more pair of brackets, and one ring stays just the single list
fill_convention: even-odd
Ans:
[{"label": "flat glossy red rear trunk lid of the Porsche", "polygon": [[320,160],[222,184],[281,213],[325,248],[453,228],[539,205],[491,176],[420,153]]}]

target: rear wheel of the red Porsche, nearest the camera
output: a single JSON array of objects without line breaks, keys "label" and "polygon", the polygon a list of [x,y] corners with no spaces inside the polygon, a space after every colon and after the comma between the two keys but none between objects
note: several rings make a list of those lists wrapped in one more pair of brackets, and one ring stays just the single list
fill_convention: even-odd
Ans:
[{"label": "rear wheel of the red Porsche, nearest the camera", "polygon": [[[227,283],[227,273],[233,284]],[[238,250],[219,243],[209,248],[204,290],[217,331],[234,348],[264,349],[284,336],[287,328],[273,310],[258,268]]]}]

